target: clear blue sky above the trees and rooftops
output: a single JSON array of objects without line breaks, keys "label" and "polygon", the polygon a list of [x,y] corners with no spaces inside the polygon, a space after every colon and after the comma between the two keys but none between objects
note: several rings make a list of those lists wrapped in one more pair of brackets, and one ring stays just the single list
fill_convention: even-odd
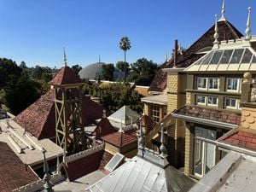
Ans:
[{"label": "clear blue sky above the trees and rooftops", "polygon": [[[170,57],[174,40],[188,48],[221,15],[222,0],[0,0],[0,57],[35,65],[68,65],[124,59],[119,39],[127,36],[127,61],[145,57],[157,63]],[[226,18],[242,33],[256,2],[226,0]]]}]

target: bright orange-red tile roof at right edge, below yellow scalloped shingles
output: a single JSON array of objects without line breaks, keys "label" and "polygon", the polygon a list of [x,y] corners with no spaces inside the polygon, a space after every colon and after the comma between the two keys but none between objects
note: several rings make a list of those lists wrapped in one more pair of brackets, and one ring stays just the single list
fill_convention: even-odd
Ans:
[{"label": "bright orange-red tile roof at right edge, below yellow scalloped shingles", "polygon": [[239,131],[239,129],[237,129],[237,131],[230,136],[221,139],[220,142],[256,151],[256,133]]}]

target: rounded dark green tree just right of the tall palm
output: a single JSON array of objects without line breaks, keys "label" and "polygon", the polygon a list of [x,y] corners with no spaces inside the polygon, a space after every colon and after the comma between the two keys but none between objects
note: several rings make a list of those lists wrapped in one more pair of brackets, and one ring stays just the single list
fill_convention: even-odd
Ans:
[{"label": "rounded dark green tree just right of the tall palm", "polygon": [[145,58],[138,59],[135,63],[131,64],[128,80],[139,85],[148,86],[159,69],[160,67],[153,61],[148,61]]}]

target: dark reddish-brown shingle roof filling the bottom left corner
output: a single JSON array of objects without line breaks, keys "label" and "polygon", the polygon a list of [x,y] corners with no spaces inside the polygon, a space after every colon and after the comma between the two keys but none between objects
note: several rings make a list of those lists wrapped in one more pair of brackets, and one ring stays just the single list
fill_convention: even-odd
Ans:
[{"label": "dark reddish-brown shingle roof filling the bottom left corner", "polygon": [[39,180],[16,156],[7,143],[0,142],[0,191],[9,192]]}]

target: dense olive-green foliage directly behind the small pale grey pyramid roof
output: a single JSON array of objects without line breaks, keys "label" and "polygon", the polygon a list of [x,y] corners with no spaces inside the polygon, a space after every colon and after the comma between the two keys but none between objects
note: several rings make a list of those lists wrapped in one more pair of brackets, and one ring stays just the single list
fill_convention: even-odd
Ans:
[{"label": "dense olive-green foliage directly behind the small pale grey pyramid roof", "polygon": [[98,97],[104,108],[111,113],[124,105],[129,105],[131,109],[138,113],[143,112],[141,97],[136,90],[131,89],[130,84],[109,84],[99,88]]}]

